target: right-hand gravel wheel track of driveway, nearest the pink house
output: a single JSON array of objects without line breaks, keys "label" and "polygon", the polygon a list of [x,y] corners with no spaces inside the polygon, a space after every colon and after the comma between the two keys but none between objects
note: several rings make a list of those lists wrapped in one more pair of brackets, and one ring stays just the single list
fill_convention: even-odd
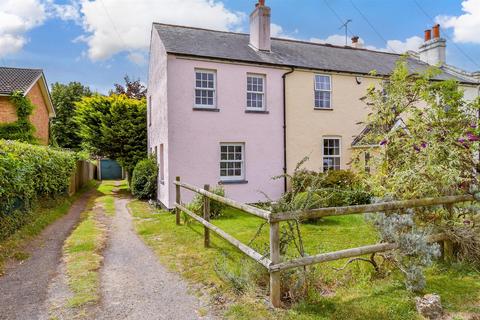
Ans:
[{"label": "right-hand gravel wheel track of driveway, nearest the pink house", "polygon": [[202,303],[168,272],[133,230],[127,199],[115,199],[102,268],[98,319],[200,319]]}]

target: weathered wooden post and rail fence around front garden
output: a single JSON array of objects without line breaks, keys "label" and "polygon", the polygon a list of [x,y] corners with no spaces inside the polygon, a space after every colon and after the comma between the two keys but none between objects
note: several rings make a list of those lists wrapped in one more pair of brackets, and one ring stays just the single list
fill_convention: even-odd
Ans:
[{"label": "weathered wooden post and rail fence around front garden", "polygon": [[[392,201],[384,203],[375,203],[367,205],[345,206],[345,207],[330,207],[319,208],[304,211],[292,211],[272,213],[267,210],[253,207],[244,203],[237,202],[232,199],[228,199],[209,191],[209,185],[205,185],[203,189],[190,185],[180,181],[180,177],[176,178],[174,182],[176,187],[176,203],[175,214],[176,224],[181,225],[180,213],[184,212],[197,222],[204,226],[205,247],[210,246],[210,231],[216,233],[221,238],[228,241],[238,250],[249,256],[257,263],[263,265],[270,274],[270,302],[274,307],[280,307],[280,272],[283,270],[297,268],[302,266],[308,266],[317,263],[323,263],[328,261],[334,261],[344,258],[353,258],[362,256],[365,254],[373,254],[377,252],[385,252],[398,248],[396,243],[377,243],[372,245],[366,245],[357,248],[344,249],[335,252],[321,253],[312,256],[300,257],[289,261],[282,261],[280,256],[280,222],[287,220],[301,220],[321,218],[327,216],[343,216],[351,214],[363,214],[363,213],[378,213],[385,211],[394,211],[407,208],[419,208],[429,206],[452,206],[456,203],[475,201],[472,195],[458,195],[458,196],[444,196],[438,198],[425,198],[414,200],[402,200]],[[203,217],[188,210],[181,204],[181,188],[193,191],[204,197]],[[210,223],[210,201],[218,201],[226,204],[232,208],[236,208],[242,212],[257,216],[261,219],[268,221],[270,225],[270,255],[269,257],[260,254],[253,248],[247,246],[241,241],[237,240],[233,236],[229,235],[222,229]],[[429,237],[429,242],[446,241],[446,236],[443,234],[436,234]]]}]

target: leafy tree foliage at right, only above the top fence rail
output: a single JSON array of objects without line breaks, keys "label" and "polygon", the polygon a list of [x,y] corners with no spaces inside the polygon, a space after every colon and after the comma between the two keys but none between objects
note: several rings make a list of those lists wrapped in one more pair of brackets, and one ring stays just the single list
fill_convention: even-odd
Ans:
[{"label": "leafy tree foliage at right, only above the top fence rail", "polygon": [[[477,184],[479,99],[466,101],[458,82],[431,81],[435,74],[412,76],[401,60],[389,81],[368,90],[368,136],[381,148],[366,176],[377,196],[452,195]],[[396,125],[400,119],[404,127]]]}]

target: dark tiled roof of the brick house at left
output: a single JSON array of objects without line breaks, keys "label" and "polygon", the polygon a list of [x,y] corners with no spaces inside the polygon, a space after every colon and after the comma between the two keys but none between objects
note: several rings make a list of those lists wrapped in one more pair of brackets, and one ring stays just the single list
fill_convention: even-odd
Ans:
[{"label": "dark tiled roof of the brick house at left", "polygon": [[26,93],[42,73],[40,69],[0,67],[0,95],[14,91]]}]

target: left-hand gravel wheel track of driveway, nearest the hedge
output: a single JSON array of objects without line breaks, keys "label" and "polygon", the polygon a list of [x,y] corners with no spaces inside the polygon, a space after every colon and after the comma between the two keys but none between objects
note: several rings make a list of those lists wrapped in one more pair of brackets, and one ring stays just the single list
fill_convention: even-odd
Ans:
[{"label": "left-hand gravel wheel track of driveway, nearest the hedge", "polygon": [[83,194],[67,215],[43,230],[26,249],[30,258],[7,267],[0,277],[0,319],[38,319],[45,312],[48,285],[60,263],[63,242],[80,219],[90,195]]}]

